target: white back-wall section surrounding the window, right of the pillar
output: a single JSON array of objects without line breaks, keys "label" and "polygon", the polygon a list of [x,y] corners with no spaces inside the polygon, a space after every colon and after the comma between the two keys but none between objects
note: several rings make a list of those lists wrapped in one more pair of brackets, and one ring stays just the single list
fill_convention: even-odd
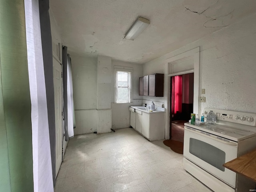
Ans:
[{"label": "white back-wall section surrounding the window, right of the pillar", "polygon": [[114,76],[112,75],[111,85],[111,108],[112,108],[112,129],[126,128],[130,126],[129,106],[141,106],[142,96],[139,96],[139,77],[143,76],[143,65],[129,62],[112,60],[112,74],[114,66],[132,67],[132,102],[131,103],[114,103]]}]

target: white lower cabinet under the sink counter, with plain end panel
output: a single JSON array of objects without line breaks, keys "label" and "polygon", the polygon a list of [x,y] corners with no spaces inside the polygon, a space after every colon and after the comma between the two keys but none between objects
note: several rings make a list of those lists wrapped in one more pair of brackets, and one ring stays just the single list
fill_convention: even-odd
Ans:
[{"label": "white lower cabinet under the sink counter, with plain end panel", "polygon": [[137,132],[150,141],[164,139],[165,113],[146,113],[136,110],[135,114],[135,127],[132,127]]}]

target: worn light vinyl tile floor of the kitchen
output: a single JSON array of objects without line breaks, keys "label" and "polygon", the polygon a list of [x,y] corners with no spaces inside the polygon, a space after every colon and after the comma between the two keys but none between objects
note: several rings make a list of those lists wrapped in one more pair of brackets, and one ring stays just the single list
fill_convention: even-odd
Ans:
[{"label": "worn light vinyl tile floor of the kitchen", "polygon": [[208,192],[183,169],[183,156],[132,128],[74,136],[55,192]]}]

